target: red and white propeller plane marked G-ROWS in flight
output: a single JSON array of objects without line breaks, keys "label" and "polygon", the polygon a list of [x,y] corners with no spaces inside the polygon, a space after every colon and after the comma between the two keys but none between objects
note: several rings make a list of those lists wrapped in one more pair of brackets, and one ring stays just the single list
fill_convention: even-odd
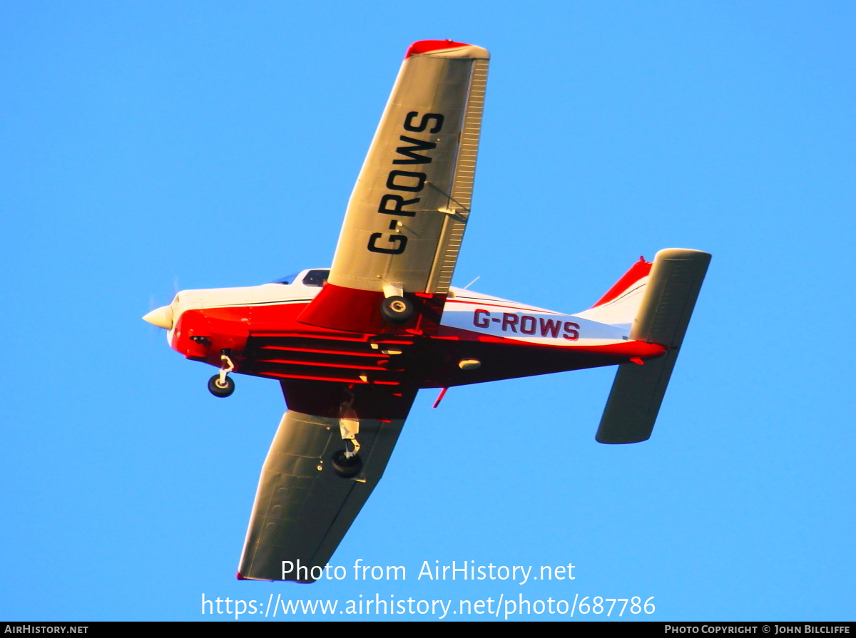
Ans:
[{"label": "red and white propeller plane marked G-ROWS in flight", "polygon": [[[651,436],[706,252],[640,259],[576,315],[450,286],[470,215],[490,56],[407,50],[330,269],[185,290],[144,318],[229,373],[276,379],[288,410],[265,459],[238,578],[312,582],[383,475],[419,388],[618,365],[597,440]],[[435,403],[435,407],[437,405]],[[298,561],[300,561],[298,563]],[[300,564],[309,569],[285,569]]]}]

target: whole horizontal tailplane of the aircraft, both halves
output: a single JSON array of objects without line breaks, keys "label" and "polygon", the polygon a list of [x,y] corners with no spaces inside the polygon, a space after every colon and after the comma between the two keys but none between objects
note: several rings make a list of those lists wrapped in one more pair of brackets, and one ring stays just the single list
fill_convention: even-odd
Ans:
[{"label": "whole horizontal tailplane of the aircraft, both halves", "polygon": [[681,248],[654,257],[630,337],[669,350],[643,365],[618,367],[597,428],[598,442],[638,443],[651,437],[709,263],[710,254]]}]

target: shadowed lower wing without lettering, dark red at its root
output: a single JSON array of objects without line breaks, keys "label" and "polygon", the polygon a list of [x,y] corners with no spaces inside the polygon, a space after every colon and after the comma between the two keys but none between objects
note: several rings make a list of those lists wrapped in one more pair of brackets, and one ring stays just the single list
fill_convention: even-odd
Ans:
[{"label": "shadowed lower wing without lettering, dark red at its root", "polygon": [[[289,409],[262,467],[238,578],[312,582],[383,476],[416,390],[289,380],[282,393]],[[345,447],[342,421],[360,425],[353,478],[331,464]]]}]

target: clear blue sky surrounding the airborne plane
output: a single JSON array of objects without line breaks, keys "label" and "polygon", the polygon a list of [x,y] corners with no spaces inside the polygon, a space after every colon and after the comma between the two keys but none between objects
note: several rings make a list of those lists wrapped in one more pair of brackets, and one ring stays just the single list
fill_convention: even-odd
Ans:
[{"label": "clear blue sky surrounding the airborne plane", "polygon": [[[852,620],[854,22],[849,3],[4,3],[0,617],[228,620],[202,595],[273,592]],[[639,255],[709,251],[681,358],[636,446],[594,441],[613,369],[437,410],[420,393],[331,561],[407,581],[237,582],[282,395],[238,376],[212,398],[140,316],[176,286],[329,264],[423,38],[492,53],[455,283],[575,312]],[[576,577],[417,578],[453,560]]]}]

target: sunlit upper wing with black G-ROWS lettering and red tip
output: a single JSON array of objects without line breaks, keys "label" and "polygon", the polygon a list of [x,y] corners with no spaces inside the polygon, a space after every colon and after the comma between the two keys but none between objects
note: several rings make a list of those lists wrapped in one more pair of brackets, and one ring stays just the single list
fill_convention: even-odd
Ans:
[{"label": "sunlit upper wing with black G-ROWS lettering and red tip", "polygon": [[328,285],[301,322],[384,332],[384,296],[449,292],[473,195],[489,57],[450,40],[407,51],[348,202]]}]

